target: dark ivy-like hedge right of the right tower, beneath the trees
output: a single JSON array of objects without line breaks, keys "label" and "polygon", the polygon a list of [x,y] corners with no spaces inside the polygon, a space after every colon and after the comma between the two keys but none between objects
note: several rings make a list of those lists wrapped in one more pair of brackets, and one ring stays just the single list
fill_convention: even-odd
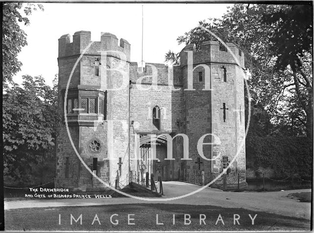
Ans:
[{"label": "dark ivy-like hedge right of the right tower, beneath the trees", "polygon": [[265,137],[250,131],[246,137],[246,166],[255,170],[271,167],[281,178],[291,174],[309,178],[312,141],[306,137]]}]

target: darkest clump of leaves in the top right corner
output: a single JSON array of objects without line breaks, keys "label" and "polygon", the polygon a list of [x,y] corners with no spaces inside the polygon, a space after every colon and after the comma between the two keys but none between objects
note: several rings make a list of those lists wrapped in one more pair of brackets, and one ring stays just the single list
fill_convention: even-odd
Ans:
[{"label": "darkest clump of leaves in the top right corner", "polygon": [[279,8],[263,16],[263,21],[274,26],[271,51],[277,56],[276,67],[285,69],[288,65],[301,67],[300,57],[312,52],[313,10],[311,5],[295,5]]}]

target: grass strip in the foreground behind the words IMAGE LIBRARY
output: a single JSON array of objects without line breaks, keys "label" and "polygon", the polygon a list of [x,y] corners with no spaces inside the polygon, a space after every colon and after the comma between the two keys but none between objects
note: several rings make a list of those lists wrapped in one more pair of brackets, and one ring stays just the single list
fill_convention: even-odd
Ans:
[{"label": "grass strip in the foreground behind the words IMAGE LIBRARY", "polygon": [[[60,214],[60,224],[59,224]],[[71,214],[74,219],[71,225]],[[82,214],[82,225],[78,217]],[[97,217],[95,215],[97,214]],[[117,215],[113,215],[117,214]],[[130,223],[128,225],[128,214]],[[158,223],[163,225],[157,225]],[[173,214],[175,222],[173,225]],[[186,223],[184,225],[184,214]],[[189,215],[187,215],[189,214]],[[201,218],[206,219],[201,221]],[[234,214],[237,214],[234,216]],[[252,225],[251,218],[254,218]],[[257,215],[256,215],[257,214]],[[220,217],[219,217],[220,215]],[[114,225],[110,222],[117,223]],[[238,223],[234,217],[238,218]],[[98,220],[97,220],[98,218]],[[75,222],[75,220],[78,220]],[[218,220],[218,221],[217,221]],[[92,225],[94,221],[94,224]],[[217,222],[217,225],[215,224]],[[223,224],[223,223],[224,224]],[[100,225],[100,224],[101,225]],[[206,225],[205,225],[206,224]],[[5,210],[7,231],[309,231],[310,220],[243,208],[175,204],[121,204],[89,207],[45,207]]]}]

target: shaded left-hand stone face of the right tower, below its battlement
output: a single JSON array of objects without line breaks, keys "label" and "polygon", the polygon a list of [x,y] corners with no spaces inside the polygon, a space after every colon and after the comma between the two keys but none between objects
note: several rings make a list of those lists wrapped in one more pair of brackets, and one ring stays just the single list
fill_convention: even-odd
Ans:
[{"label": "shaded left-hand stone face of the right tower, below its battlement", "polygon": [[[203,67],[195,67],[193,71],[193,89],[183,91],[183,103],[185,109],[185,134],[189,139],[189,158],[186,161],[186,169],[198,170],[196,163],[200,157],[197,144],[201,137],[207,133],[211,133],[211,91],[203,90],[205,88],[205,69]],[[203,80],[199,81],[199,72],[202,72]],[[187,89],[187,67],[182,66],[183,88]],[[209,74],[208,74],[209,75]],[[204,143],[210,142],[209,136],[204,138]],[[204,156],[211,158],[211,146],[204,145],[202,147]],[[211,179],[211,161],[201,158],[201,170],[205,172],[205,182]]]}]

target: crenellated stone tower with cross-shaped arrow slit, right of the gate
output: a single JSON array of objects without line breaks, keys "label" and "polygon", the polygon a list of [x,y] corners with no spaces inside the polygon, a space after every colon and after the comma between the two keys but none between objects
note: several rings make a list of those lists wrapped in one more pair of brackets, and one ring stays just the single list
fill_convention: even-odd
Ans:
[{"label": "crenellated stone tower with cross-shaped arrow slit, right of the gate", "polygon": [[[217,177],[233,160],[227,174],[227,189],[245,188],[244,54],[232,43],[227,48],[207,41],[196,50],[187,45],[180,53],[185,106],[185,133],[189,136],[187,169],[204,172],[205,183]],[[203,153],[198,140],[205,134]],[[213,136],[212,136],[213,135]],[[219,179],[213,187],[222,188]]]}]

